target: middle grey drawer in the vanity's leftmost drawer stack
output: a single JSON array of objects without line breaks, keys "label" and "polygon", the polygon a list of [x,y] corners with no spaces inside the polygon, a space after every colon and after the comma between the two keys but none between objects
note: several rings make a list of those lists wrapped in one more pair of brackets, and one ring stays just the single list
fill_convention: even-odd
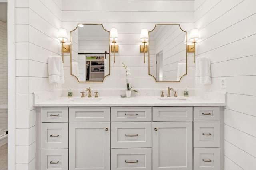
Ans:
[{"label": "middle grey drawer in the vanity's leftmost drawer stack", "polygon": [[41,123],[41,149],[68,148],[68,123]]}]

